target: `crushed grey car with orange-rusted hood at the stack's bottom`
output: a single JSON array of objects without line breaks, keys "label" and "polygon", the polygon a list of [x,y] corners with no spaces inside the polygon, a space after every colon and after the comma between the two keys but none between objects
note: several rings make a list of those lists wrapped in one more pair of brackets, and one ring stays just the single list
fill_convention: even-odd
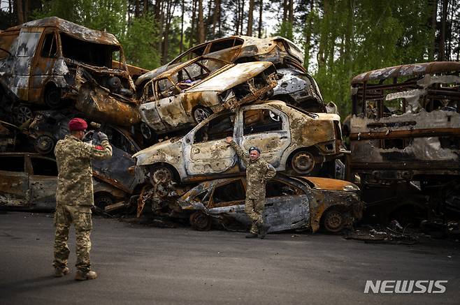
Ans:
[{"label": "crushed grey car with orange-rusted hood at the stack's bottom", "polygon": [[[243,177],[206,181],[178,202],[196,230],[209,230],[213,223],[229,230],[247,230],[251,221],[244,211],[245,188]],[[363,209],[359,188],[347,181],[278,174],[266,184],[268,232],[308,228],[339,232],[361,219]]]}]

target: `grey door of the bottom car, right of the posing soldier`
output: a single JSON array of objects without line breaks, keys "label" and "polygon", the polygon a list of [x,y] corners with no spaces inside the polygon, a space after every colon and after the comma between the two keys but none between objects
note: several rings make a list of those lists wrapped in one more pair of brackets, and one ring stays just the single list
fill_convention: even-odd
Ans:
[{"label": "grey door of the bottom car, right of the posing soldier", "polygon": [[310,205],[303,189],[272,179],[266,184],[264,219],[270,226],[268,232],[308,228]]}]

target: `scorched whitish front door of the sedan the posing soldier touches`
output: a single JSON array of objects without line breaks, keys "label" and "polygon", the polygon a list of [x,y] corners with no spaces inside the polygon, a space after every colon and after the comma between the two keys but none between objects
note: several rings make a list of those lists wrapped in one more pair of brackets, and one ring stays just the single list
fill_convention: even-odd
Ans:
[{"label": "scorched whitish front door of the sedan the posing soldier touches", "polygon": [[[239,172],[236,152],[225,142],[233,136],[235,114],[207,119],[184,137],[185,170],[191,176]],[[232,169],[233,168],[233,169]]]}]

